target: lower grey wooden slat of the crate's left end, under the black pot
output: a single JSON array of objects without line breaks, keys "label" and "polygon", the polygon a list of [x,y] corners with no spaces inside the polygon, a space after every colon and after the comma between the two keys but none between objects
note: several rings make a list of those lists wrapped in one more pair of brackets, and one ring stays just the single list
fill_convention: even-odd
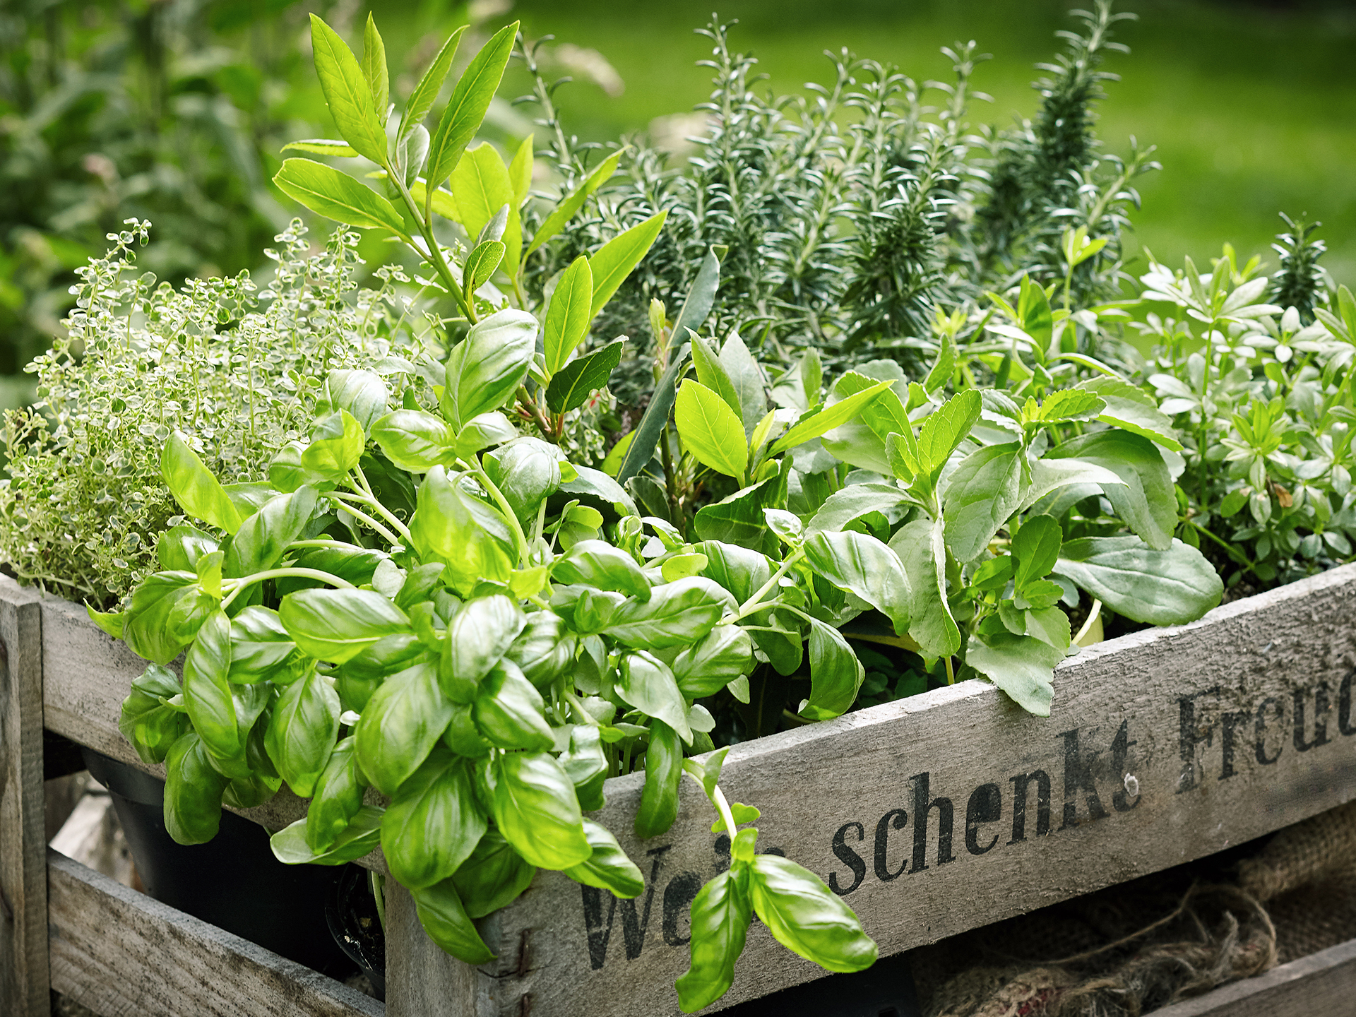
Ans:
[{"label": "lower grey wooden slat of the crate's left end, under the black pot", "polygon": [[100,1017],[381,1017],[248,940],[47,853],[52,987]]}]

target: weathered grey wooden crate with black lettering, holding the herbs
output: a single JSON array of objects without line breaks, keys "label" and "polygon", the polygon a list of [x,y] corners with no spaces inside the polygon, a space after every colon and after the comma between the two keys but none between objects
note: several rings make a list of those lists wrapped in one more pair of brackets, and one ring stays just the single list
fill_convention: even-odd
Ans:
[{"label": "weathered grey wooden crate with black lettering, holding the herbs", "polygon": [[[1356,567],[1348,565],[1192,625],[1081,652],[1056,673],[1050,719],[1022,713],[991,685],[965,682],[735,746],[721,784],[731,799],[763,810],[761,850],[781,850],[829,880],[881,953],[896,953],[1199,858],[1353,797],[1353,617]],[[164,984],[180,979],[198,994],[186,997],[193,1013],[381,1012],[330,979],[77,873],[69,861],[49,862],[42,727],[136,763],[117,716],[144,664],[81,607],[9,580],[0,583],[0,640],[7,1014],[46,1012],[49,955],[52,984],[76,998],[117,998],[107,1013],[172,1013],[156,1001],[172,998]],[[393,891],[386,1010],[565,1017],[587,999],[599,1017],[675,1014],[686,907],[728,849],[693,792],[685,788],[669,834],[641,842],[628,835],[639,777],[609,781],[603,820],[645,873],[645,892],[618,902],[540,873],[483,923],[499,953],[483,968],[438,951],[408,895]],[[278,827],[302,808],[279,795],[244,815]],[[382,866],[380,853],[363,864]],[[104,944],[91,934],[108,928],[113,911],[134,915],[134,928],[151,930],[136,936],[149,938],[129,933],[125,944]],[[49,918],[52,936],[69,936],[79,949],[61,942],[49,952]],[[85,932],[76,936],[76,928]],[[134,961],[138,942],[151,941],[156,956]],[[137,972],[138,963],[155,984],[123,976],[117,995],[99,995],[110,980],[103,972]],[[248,1001],[239,979],[203,978],[205,968],[241,964],[256,965]],[[719,1006],[822,975],[755,925]]]}]

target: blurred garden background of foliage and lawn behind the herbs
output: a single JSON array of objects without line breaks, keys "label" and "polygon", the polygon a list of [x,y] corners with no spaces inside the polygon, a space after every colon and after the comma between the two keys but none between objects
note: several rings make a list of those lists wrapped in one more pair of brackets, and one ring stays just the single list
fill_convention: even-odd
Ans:
[{"label": "blurred garden background of foliage and lawn behind the herbs", "polygon": [[[468,18],[498,27],[509,7],[384,5],[393,52],[410,53],[410,66],[392,68],[393,88],[408,91],[431,58],[424,41]],[[997,0],[850,9],[731,0],[719,14],[740,20],[731,45],[759,57],[750,87],[773,94],[831,84],[820,54],[839,46],[899,64],[919,84],[955,80],[938,47],[975,38],[976,53],[995,60],[976,66],[974,88],[994,103],[970,118],[1003,127],[1013,111],[1035,114],[1031,64],[1050,58],[1052,30],[1074,27],[1066,8],[1040,0],[1018,18]],[[1125,80],[1109,85],[1098,133],[1121,156],[1136,133],[1165,165],[1143,178],[1147,206],[1132,216],[1125,254],[1143,244],[1176,259],[1223,240],[1265,251],[1284,209],[1323,221],[1326,263],[1345,275],[1356,262],[1356,178],[1345,170],[1356,159],[1356,71],[1341,58],[1351,12],[1223,0],[1121,8],[1142,20],[1117,27],[1135,54],[1108,64]],[[330,132],[308,71],[311,9],[348,35],[366,11],[355,0],[9,0],[0,11],[0,401],[22,401],[12,376],[60,331],[75,268],[100,256],[125,218],[155,224],[138,267],[172,282],[263,263],[296,212],[268,183],[281,145]],[[545,49],[548,76],[575,79],[556,95],[567,132],[614,142],[648,130],[659,146],[685,144],[694,121],[683,114],[711,91],[711,71],[696,66],[711,43],[692,34],[709,12],[696,0],[637,4],[624,16],[583,0],[514,4],[529,38],[557,37]],[[753,80],[762,72],[766,85]],[[511,69],[503,95],[527,84]],[[513,115],[499,103],[491,119],[517,140],[532,127]],[[363,243],[373,264],[388,250]]]}]

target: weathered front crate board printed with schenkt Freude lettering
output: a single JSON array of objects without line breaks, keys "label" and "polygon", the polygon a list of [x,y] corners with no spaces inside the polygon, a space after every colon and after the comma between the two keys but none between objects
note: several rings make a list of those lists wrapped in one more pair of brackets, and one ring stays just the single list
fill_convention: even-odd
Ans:
[{"label": "weathered front crate board printed with schenkt Freude lettering", "polygon": [[[735,746],[721,785],[763,810],[759,850],[824,879],[896,953],[1351,799],[1353,618],[1344,567],[1071,658],[1050,719],[967,682]],[[677,1014],[686,909],[728,845],[686,781],[674,829],[637,841],[640,786],[610,781],[602,819],[645,892],[616,900],[540,873],[499,917],[500,957],[483,972],[495,1013],[563,1017],[583,998],[598,1014]],[[820,975],[755,923],[720,1005]]]}]

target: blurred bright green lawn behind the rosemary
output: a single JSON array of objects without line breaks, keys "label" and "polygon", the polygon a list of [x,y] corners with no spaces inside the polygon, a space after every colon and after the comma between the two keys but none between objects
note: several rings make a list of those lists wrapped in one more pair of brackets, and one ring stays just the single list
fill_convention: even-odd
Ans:
[{"label": "blurred bright green lawn behind the rosemary", "polygon": [[[739,19],[732,43],[758,57],[777,92],[829,79],[823,50],[843,46],[919,81],[945,79],[949,62],[938,49],[976,39],[993,60],[974,85],[994,102],[974,104],[971,119],[1006,125],[1035,111],[1033,64],[1052,57],[1056,30],[1075,27],[1071,5],[725,0],[719,12]],[[1112,152],[1124,153],[1130,136],[1157,145],[1163,165],[1139,180],[1135,241],[1178,264],[1188,254],[1204,262],[1230,241],[1275,267],[1268,245],[1283,225],[1276,213],[1307,214],[1323,224],[1328,268],[1356,282],[1356,7],[1138,0],[1117,9],[1139,19],[1117,26],[1131,53],[1112,54],[1104,68],[1121,80],[1106,84],[1100,133]],[[620,72],[618,98],[582,81],[560,91],[567,126],[607,140],[705,99],[709,72],[694,62],[709,43],[692,30],[711,14],[711,0],[519,0],[511,16],[532,37],[552,33],[599,50]],[[521,72],[507,84],[521,91]]]}]

